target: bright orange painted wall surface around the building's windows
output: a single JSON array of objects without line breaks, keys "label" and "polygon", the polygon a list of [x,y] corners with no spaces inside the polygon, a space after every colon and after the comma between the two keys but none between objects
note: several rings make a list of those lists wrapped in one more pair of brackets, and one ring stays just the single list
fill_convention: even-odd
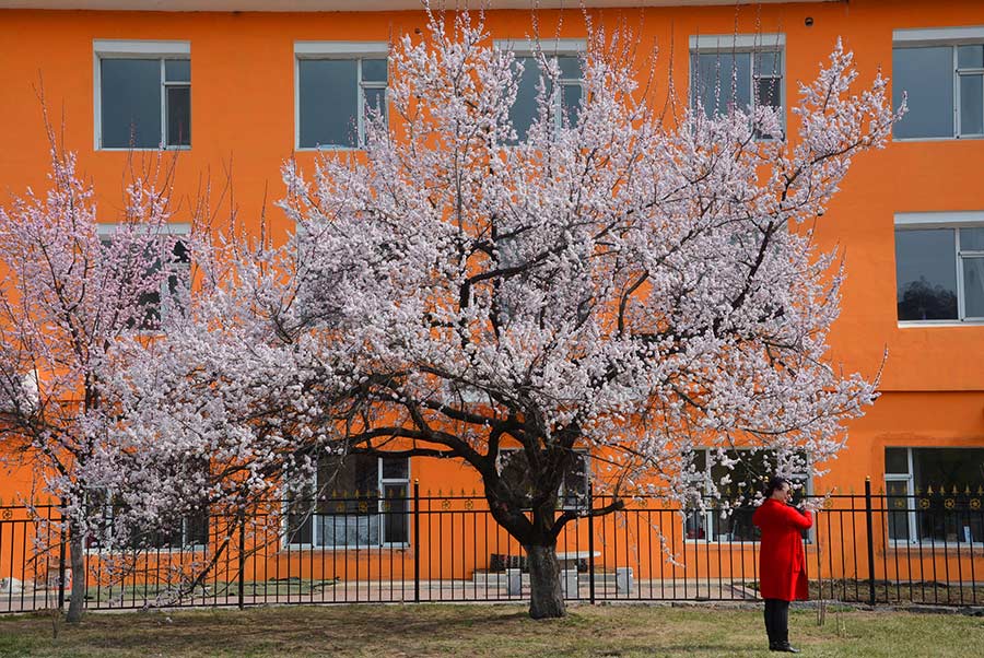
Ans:
[{"label": "bright orange painted wall surface around the building's windows", "polygon": [[[541,34],[582,37],[577,11],[541,12]],[[984,24],[980,0],[854,0],[595,11],[596,24],[620,21],[641,33],[644,45],[663,49],[656,80],[688,79],[687,43],[694,34],[782,32],[786,35],[786,94],[811,80],[837,36],[855,51],[862,81],[881,67],[891,75],[892,30]],[[811,16],[807,27],[804,19]],[[63,117],[65,142],[99,192],[106,221],[120,207],[127,154],[93,148],[93,39],[180,39],[191,43],[192,148],[178,154],[177,195],[187,211],[202,176],[232,181],[239,218],[258,222],[267,198],[274,233],[288,230],[272,201],[282,196],[279,168],[294,139],[293,44],[295,40],[387,40],[423,28],[420,12],[390,13],[153,13],[0,10],[0,193],[43,187],[47,153],[33,85],[43,80],[54,120]],[[523,39],[528,12],[492,12],[495,38]],[[790,117],[792,118],[792,117]],[[790,124],[792,125],[792,124]],[[152,158],[152,153],[137,157]],[[308,171],[312,153],[297,157]],[[893,143],[865,154],[848,174],[842,195],[820,222],[820,242],[846,251],[848,279],[842,318],[832,336],[833,357],[848,369],[872,374],[888,349],[882,390],[864,420],[852,425],[852,448],[832,465],[825,482],[863,485],[880,478],[886,445],[984,444],[984,327],[905,328],[895,321],[893,213],[984,210],[984,141]],[[178,221],[181,218],[176,218]],[[954,392],[944,392],[954,391]],[[414,460],[413,477],[445,490],[476,486],[457,463]],[[20,485],[16,487],[20,489]],[[15,485],[0,479],[0,496]],[[4,491],[5,490],[5,491]]]}]

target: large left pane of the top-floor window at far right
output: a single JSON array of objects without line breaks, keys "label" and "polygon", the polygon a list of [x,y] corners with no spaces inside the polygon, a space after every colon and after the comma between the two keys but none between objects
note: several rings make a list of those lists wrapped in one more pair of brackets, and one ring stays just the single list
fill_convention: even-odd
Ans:
[{"label": "large left pane of the top-floor window at far right", "polygon": [[892,104],[909,93],[909,111],[894,125],[897,138],[953,137],[953,48],[894,48]]}]

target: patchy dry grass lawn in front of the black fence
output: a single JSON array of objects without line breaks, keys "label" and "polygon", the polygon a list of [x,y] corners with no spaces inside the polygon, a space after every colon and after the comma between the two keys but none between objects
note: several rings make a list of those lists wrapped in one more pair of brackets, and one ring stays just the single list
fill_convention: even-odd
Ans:
[{"label": "patchy dry grass lawn in front of the black fence", "polygon": [[[828,611],[790,613],[807,656],[911,658],[984,655],[984,618]],[[536,622],[517,606],[338,606],[0,616],[0,656],[57,658],[362,656],[776,656],[762,613],[734,608],[578,606]]]}]

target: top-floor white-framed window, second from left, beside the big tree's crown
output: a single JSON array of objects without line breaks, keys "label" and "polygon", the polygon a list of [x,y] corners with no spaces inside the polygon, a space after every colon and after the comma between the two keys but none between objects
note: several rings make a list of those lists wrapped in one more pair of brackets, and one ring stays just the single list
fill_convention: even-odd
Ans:
[{"label": "top-floor white-framed window, second from left, beside the big tree's crown", "polygon": [[358,149],[372,113],[387,116],[388,46],[297,43],[298,149]]}]

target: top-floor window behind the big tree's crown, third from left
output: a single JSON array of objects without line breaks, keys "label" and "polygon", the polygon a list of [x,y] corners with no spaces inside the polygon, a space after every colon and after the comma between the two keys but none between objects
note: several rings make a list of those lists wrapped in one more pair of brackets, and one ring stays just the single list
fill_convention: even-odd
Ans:
[{"label": "top-floor window behind the big tree's crown, third from left", "polygon": [[585,44],[578,39],[548,39],[539,43],[544,58],[557,62],[560,78],[557,80],[557,89],[547,80],[536,52],[529,48],[517,49],[512,42],[495,42],[497,48],[512,50],[515,60],[514,71],[523,66],[519,75],[519,89],[516,92],[516,101],[509,108],[509,122],[516,130],[517,141],[526,141],[529,129],[537,119],[537,95],[539,93],[540,79],[547,84],[547,94],[550,98],[551,118],[559,130],[564,125],[564,119],[573,125],[577,122],[577,114],[581,110],[581,99],[584,95],[584,72],[582,71],[582,52]]}]

